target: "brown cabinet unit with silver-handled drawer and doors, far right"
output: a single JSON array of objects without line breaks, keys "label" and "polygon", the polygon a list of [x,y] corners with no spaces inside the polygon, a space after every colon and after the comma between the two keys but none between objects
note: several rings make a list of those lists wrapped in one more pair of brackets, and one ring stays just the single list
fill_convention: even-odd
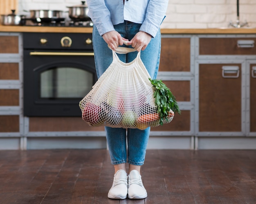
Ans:
[{"label": "brown cabinet unit with silver-handled drawer and doors, far right", "polygon": [[197,40],[196,136],[256,136],[256,36]]}]

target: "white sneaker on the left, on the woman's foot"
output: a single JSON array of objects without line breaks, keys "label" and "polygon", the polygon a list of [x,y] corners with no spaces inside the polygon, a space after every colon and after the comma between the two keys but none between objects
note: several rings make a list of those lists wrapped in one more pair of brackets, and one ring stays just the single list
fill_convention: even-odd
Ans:
[{"label": "white sneaker on the left, on the woman's foot", "polygon": [[108,198],[126,199],[127,197],[127,173],[124,170],[118,170],[114,175],[111,189],[108,191]]}]

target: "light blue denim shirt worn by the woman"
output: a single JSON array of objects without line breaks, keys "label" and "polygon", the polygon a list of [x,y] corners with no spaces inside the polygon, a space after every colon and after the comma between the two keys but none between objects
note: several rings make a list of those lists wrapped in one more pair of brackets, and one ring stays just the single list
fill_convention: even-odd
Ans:
[{"label": "light blue denim shirt worn by the woman", "polygon": [[165,18],[168,0],[87,0],[88,16],[100,35],[115,31],[124,20],[141,24],[140,31],[155,37]]}]

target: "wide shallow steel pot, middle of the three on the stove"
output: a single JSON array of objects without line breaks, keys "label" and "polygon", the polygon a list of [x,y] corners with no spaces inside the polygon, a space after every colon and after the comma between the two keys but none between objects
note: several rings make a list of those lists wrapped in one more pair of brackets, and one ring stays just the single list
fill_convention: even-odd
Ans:
[{"label": "wide shallow steel pot, middle of the three on the stove", "polygon": [[63,18],[63,11],[56,10],[29,10],[30,18],[52,19]]}]

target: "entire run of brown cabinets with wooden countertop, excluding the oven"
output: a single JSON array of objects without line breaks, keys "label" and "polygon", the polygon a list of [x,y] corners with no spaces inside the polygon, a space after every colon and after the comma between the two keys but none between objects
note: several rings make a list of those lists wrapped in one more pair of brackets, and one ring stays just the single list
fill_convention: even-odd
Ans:
[{"label": "entire run of brown cabinets with wooden countertop, excluding the oven", "polygon": [[[256,149],[256,29],[161,31],[158,79],[176,96],[182,114],[151,129],[148,149]],[[27,32],[92,28],[0,26],[0,149],[106,148],[103,127],[80,117],[23,116]]]}]

